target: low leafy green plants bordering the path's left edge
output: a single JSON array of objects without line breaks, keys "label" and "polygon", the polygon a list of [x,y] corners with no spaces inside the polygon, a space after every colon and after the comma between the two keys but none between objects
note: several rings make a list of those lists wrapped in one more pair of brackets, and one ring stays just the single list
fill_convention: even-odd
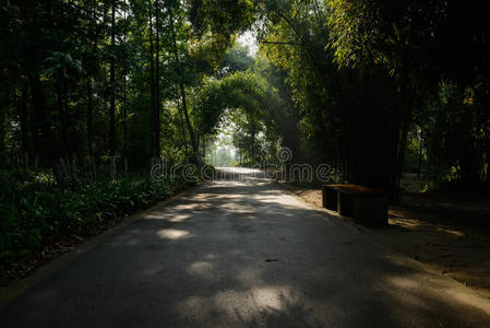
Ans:
[{"label": "low leafy green plants bordering the path's left edge", "polygon": [[165,200],[183,181],[134,177],[81,184],[70,190],[46,175],[32,175],[19,184],[3,174],[1,185],[0,272],[60,237],[89,235],[107,220]]}]

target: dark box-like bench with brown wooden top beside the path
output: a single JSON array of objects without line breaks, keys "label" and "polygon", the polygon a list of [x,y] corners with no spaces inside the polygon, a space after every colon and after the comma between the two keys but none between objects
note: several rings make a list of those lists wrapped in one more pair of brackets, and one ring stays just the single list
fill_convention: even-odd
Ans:
[{"label": "dark box-like bench with brown wooden top beside the path", "polygon": [[387,225],[387,201],[380,190],[357,185],[323,185],[323,207],[369,226]]}]

